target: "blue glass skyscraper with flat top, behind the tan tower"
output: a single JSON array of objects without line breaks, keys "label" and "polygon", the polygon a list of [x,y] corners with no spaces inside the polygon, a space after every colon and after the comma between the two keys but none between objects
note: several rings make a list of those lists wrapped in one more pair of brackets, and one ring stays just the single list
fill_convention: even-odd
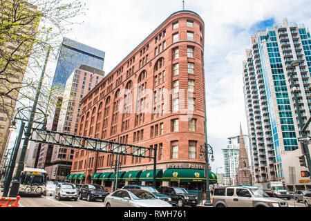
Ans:
[{"label": "blue glass skyscraper with flat top, behind the tan tower", "polygon": [[102,70],[105,52],[64,37],[53,79],[53,88],[64,88],[68,77],[82,64]]}]

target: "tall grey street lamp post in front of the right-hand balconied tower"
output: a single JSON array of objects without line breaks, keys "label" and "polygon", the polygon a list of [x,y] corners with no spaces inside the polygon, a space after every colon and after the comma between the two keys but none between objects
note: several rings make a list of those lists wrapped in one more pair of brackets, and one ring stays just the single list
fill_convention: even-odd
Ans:
[{"label": "tall grey street lamp post in front of the right-hand balconied tower", "polygon": [[[301,111],[300,111],[300,106],[299,106],[299,102],[298,102],[298,96],[296,94],[296,87],[293,85],[293,79],[292,79],[292,75],[294,75],[294,70],[300,64],[301,64],[301,61],[292,61],[291,62],[290,66],[292,66],[292,73],[289,74],[289,76],[290,76],[290,85],[293,88],[294,100],[295,100],[295,103],[296,103],[295,106],[296,106],[296,112],[297,112],[297,115],[298,115],[299,129],[300,129],[299,133],[301,134],[302,137],[308,137],[308,134],[305,133],[305,130],[304,130],[303,119],[301,117]],[[309,172],[311,172],[311,159],[310,159],[310,152],[309,152],[309,148],[308,148],[308,144],[307,143],[303,142],[302,150],[303,150],[303,154],[307,158]]]}]

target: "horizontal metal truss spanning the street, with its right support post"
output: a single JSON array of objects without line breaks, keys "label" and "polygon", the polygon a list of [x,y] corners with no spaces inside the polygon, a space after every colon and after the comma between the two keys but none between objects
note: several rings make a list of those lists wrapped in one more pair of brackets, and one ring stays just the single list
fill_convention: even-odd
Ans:
[{"label": "horizontal metal truss spanning the street, with its right support post", "polygon": [[86,151],[153,159],[153,186],[156,186],[157,148],[120,144],[92,137],[82,137],[57,131],[46,131],[40,128],[32,128],[30,141],[68,148],[84,149]]}]

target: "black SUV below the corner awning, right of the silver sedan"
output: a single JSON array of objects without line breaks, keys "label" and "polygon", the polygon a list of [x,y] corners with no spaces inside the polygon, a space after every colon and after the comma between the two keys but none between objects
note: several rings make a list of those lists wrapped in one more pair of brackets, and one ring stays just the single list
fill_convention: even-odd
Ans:
[{"label": "black SUV below the corner awning, right of the silver sedan", "polygon": [[178,207],[190,205],[195,207],[198,204],[198,197],[189,195],[189,193],[182,187],[161,186],[158,191],[162,194],[171,197],[171,203],[177,204]]}]

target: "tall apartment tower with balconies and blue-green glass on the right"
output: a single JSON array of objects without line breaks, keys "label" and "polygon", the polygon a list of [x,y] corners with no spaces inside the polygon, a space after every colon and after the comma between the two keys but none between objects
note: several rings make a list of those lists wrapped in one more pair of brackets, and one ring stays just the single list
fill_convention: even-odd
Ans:
[{"label": "tall apartment tower with balconies and blue-green glass on the right", "polygon": [[[311,39],[302,24],[276,24],[251,37],[243,61],[247,124],[254,157],[254,182],[283,181],[289,189],[310,189],[296,156],[301,155],[296,105],[303,121],[311,110]],[[292,68],[291,62],[301,61]],[[294,79],[294,87],[290,77]],[[294,104],[293,90],[299,104]],[[310,126],[308,128],[310,136]]]}]

